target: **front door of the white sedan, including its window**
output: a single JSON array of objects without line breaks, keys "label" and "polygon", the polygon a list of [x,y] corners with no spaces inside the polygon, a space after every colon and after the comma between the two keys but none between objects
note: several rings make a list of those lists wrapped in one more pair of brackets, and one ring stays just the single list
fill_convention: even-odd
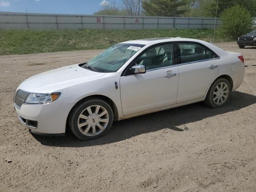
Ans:
[{"label": "front door of the white sedan, including its window", "polygon": [[148,48],[134,64],[144,65],[146,73],[120,77],[124,116],[176,104],[179,72],[172,44]]}]

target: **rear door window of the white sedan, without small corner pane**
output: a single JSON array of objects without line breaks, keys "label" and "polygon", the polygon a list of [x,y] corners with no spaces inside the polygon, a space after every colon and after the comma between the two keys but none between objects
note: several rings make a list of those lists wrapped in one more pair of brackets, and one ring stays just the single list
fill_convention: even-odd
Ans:
[{"label": "rear door window of the white sedan, without small corner pane", "polygon": [[179,63],[195,62],[206,59],[206,51],[204,46],[196,43],[178,43],[180,54],[178,56]]}]

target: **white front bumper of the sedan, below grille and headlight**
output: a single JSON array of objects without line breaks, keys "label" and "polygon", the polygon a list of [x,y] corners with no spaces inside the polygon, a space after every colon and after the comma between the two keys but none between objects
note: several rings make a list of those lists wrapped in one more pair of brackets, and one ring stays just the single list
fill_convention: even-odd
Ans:
[{"label": "white front bumper of the sedan, below grille and headlight", "polygon": [[74,104],[56,100],[48,104],[22,104],[15,111],[22,124],[35,134],[64,134],[66,120]]}]

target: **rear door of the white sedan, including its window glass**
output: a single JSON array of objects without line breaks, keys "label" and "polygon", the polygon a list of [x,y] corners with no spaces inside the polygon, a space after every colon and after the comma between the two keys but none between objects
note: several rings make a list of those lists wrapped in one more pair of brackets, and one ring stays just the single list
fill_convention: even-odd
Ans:
[{"label": "rear door of the white sedan, including its window glass", "polygon": [[196,42],[177,42],[179,84],[177,103],[203,98],[218,75],[218,56]]}]

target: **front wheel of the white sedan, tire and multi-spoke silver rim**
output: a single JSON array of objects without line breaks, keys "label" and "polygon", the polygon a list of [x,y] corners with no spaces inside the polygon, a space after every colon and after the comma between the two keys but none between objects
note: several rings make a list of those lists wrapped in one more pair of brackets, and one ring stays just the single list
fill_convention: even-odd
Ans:
[{"label": "front wheel of the white sedan, tire and multi-spoke silver rim", "polygon": [[78,103],[72,109],[68,124],[77,138],[91,140],[104,136],[110,130],[113,119],[110,105],[100,98],[92,98]]}]

